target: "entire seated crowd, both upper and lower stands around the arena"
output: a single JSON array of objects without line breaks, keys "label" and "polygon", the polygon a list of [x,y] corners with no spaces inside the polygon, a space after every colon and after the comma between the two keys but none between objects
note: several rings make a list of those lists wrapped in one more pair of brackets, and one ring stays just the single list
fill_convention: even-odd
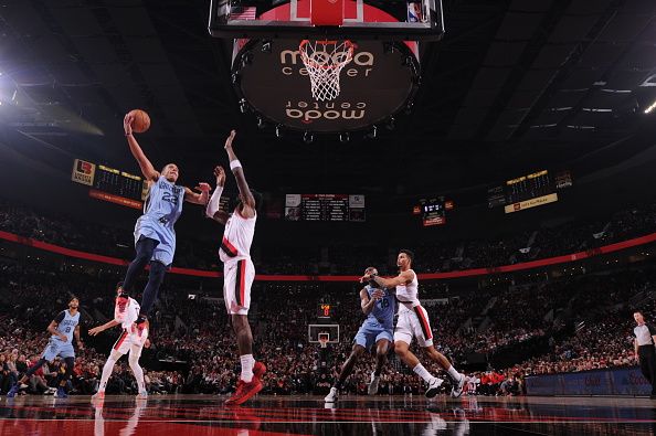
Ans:
[{"label": "entire seated crowd, both upper and lower stands around the arena", "polygon": [[[520,234],[491,243],[469,241],[459,246],[417,246],[413,247],[417,257],[416,269],[430,272],[490,266],[494,263],[521,262],[533,255],[543,257],[590,249],[595,244],[654,231],[655,215],[656,209],[650,205],[645,210],[617,213],[601,227],[599,224],[564,224],[558,228],[542,228],[533,235]],[[29,208],[0,201],[1,231],[76,249],[125,258],[131,256],[131,237],[125,232],[77,223],[63,216],[45,216]],[[89,246],[89,233],[96,235],[93,246]],[[518,255],[521,241],[526,245],[528,240],[532,240],[536,249]],[[100,248],[105,246],[113,248],[105,252]],[[273,248],[262,248],[262,253],[267,253],[267,249]],[[362,248],[361,253],[357,247],[351,252],[348,249],[336,245],[309,255],[306,253],[304,257],[304,249],[295,248],[276,256],[264,256],[274,260],[262,267],[258,265],[258,270],[275,274],[358,274],[360,270],[352,270],[350,266],[353,257],[362,264],[359,268],[377,265],[377,258],[391,263],[394,257],[393,253],[378,253],[374,248]],[[183,244],[181,251],[184,252]],[[214,249],[202,244],[190,253],[181,258],[215,257]],[[299,262],[299,258],[305,258],[305,262]],[[203,265],[212,263],[215,259],[205,259]],[[75,268],[67,262],[33,262],[27,265],[11,259],[1,260],[0,393],[7,392],[38,360],[47,341],[44,330],[49,320],[65,308],[72,295],[81,298],[84,332],[105,322],[112,316],[114,286],[123,273],[120,268],[104,266]],[[216,286],[212,290],[188,293],[173,280],[177,278],[167,277],[156,306],[150,359],[154,362],[184,363],[176,370],[161,371],[150,371],[145,365],[148,389],[151,393],[229,393],[236,383],[240,362],[234,333],[220,299],[220,283],[215,280]],[[647,268],[507,284],[457,294],[449,291],[445,285],[426,283],[422,284],[421,291],[422,298],[431,300],[426,307],[436,345],[456,366],[461,366],[473,353],[490,358],[533,339],[550,338],[549,349],[528,360],[498,369],[499,372],[472,374],[469,392],[510,395],[521,393],[522,379],[529,374],[635,364],[629,338],[631,310],[634,307],[629,301],[644,302],[654,290],[655,283],[656,274]],[[251,308],[254,348],[256,358],[269,369],[264,377],[264,393],[324,394],[329,390],[350,353],[352,338],[363,319],[358,290],[356,284],[332,287],[316,283],[255,284]],[[325,351],[308,342],[308,325],[316,322],[318,301],[331,301],[336,306],[335,318],[330,322],[340,326],[339,342],[330,343]],[[568,322],[576,326],[575,330],[567,331]],[[77,393],[88,394],[97,389],[99,370],[104,364],[106,350],[91,338],[88,343],[89,347],[77,352],[75,380],[71,386]],[[425,363],[430,371],[440,374],[435,364]],[[44,366],[24,386],[24,392],[51,393],[63,365],[55,360]],[[372,368],[373,360],[364,357],[347,381],[345,391],[364,393]],[[403,394],[421,391],[416,375],[390,353],[390,362],[381,376],[380,392]],[[127,362],[116,365],[107,392],[135,392]]]}]

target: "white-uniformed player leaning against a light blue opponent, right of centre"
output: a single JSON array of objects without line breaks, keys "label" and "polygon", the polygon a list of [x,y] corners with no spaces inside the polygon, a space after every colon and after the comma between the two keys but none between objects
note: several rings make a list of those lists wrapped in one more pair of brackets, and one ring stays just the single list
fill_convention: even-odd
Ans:
[{"label": "white-uniformed player leaning against a light blue opponent, right of centre", "polygon": [[422,307],[417,298],[419,280],[416,274],[412,270],[413,257],[414,254],[410,249],[401,249],[396,258],[396,266],[400,270],[396,277],[382,278],[377,275],[366,274],[360,280],[369,281],[373,279],[381,287],[396,288],[399,320],[394,330],[394,352],[428,384],[426,396],[431,398],[437,395],[442,380],[433,376],[410,351],[413,338],[416,338],[419,345],[424,350],[428,359],[437,362],[447,372],[453,384],[451,395],[458,397],[463,394],[463,387],[467,379],[464,374],[458,373],[448,359],[433,347],[433,331],[431,330],[428,312]]}]

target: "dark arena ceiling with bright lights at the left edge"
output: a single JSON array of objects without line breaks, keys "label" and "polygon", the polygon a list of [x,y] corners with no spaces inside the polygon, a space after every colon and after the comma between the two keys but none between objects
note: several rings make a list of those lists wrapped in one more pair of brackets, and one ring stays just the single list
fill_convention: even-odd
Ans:
[{"label": "dark arena ceiling with bright lights at the left edge", "polygon": [[[146,108],[157,163],[209,179],[240,131],[269,191],[448,193],[540,168],[592,171],[653,145],[654,0],[444,0],[446,36],[423,49],[413,111],[378,139],[306,145],[242,115],[229,43],[208,0],[7,0],[0,119],[13,157],[70,171],[85,158],[136,171],[121,118]],[[190,176],[191,174],[191,176]],[[580,174],[575,174],[580,176]]]}]

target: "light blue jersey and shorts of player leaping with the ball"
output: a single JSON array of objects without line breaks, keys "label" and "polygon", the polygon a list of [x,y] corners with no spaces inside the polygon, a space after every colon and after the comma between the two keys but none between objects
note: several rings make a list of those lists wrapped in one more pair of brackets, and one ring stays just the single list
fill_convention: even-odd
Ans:
[{"label": "light blue jersey and shorts of player leaping with the ball", "polygon": [[150,184],[148,198],[144,204],[144,215],[135,225],[135,244],[145,236],[158,241],[152,259],[170,265],[176,254],[176,230],[173,225],[182,213],[184,188],[169,182],[160,176]]}]

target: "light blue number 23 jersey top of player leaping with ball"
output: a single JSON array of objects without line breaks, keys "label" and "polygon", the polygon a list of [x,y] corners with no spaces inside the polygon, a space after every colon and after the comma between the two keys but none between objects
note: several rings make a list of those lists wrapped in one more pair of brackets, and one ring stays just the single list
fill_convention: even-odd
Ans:
[{"label": "light blue number 23 jersey top of player leaping with ball", "polygon": [[160,176],[156,182],[150,184],[141,219],[147,217],[158,222],[173,232],[173,225],[182,213],[183,200],[184,188],[178,187]]}]

